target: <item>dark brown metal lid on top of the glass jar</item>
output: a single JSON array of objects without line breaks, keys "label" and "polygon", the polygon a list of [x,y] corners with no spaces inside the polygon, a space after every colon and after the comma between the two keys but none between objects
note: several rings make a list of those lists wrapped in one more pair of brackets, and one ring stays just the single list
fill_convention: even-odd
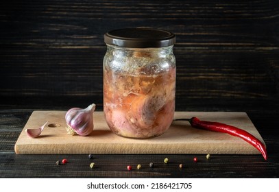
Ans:
[{"label": "dark brown metal lid on top of the glass jar", "polygon": [[152,28],[115,29],[104,35],[105,43],[119,47],[167,47],[175,43],[175,34]]}]

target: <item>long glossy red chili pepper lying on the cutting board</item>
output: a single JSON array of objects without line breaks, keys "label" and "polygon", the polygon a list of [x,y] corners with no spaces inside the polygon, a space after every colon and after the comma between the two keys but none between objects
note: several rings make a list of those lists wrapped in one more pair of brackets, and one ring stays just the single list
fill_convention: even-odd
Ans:
[{"label": "long glossy red chili pepper lying on the cutting board", "polygon": [[201,121],[197,119],[197,117],[192,117],[191,119],[175,119],[175,121],[189,121],[193,128],[200,128],[215,132],[224,132],[231,134],[232,136],[238,136],[247,143],[250,143],[251,145],[256,147],[256,149],[258,149],[258,151],[263,154],[263,158],[267,160],[267,150],[265,148],[265,145],[263,145],[260,140],[256,139],[255,136],[253,136],[249,132],[246,132],[245,130],[241,130],[232,125],[226,125],[224,123]]}]

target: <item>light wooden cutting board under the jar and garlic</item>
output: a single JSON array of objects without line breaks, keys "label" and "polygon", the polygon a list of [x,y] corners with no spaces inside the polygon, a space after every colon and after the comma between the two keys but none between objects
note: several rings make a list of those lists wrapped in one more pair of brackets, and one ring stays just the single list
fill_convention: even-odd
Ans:
[{"label": "light wooden cutting board under the jar and garlic", "polygon": [[[34,111],[16,141],[16,154],[260,154],[236,136],[192,128],[186,121],[173,121],[165,134],[152,139],[123,138],[110,131],[103,112],[94,112],[95,128],[89,136],[71,136],[66,134],[65,114]],[[264,142],[245,112],[175,112],[174,118],[191,117],[234,125]],[[26,128],[46,121],[40,136],[27,136]]]}]

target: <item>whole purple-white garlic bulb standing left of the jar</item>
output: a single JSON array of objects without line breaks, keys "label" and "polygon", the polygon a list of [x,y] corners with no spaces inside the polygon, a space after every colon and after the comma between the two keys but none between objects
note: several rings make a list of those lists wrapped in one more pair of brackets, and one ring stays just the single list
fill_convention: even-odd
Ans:
[{"label": "whole purple-white garlic bulb standing left of the jar", "polygon": [[96,105],[91,104],[87,108],[71,108],[66,112],[65,119],[68,134],[75,132],[81,136],[86,136],[93,131],[93,112]]}]

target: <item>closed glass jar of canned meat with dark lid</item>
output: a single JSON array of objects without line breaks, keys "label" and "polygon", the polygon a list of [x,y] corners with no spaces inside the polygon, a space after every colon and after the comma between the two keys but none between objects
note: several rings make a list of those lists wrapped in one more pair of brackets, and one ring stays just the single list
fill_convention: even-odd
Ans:
[{"label": "closed glass jar of canned meat with dark lid", "polygon": [[175,35],[117,29],[104,40],[104,115],[110,130],[138,139],[163,134],[175,110]]}]

